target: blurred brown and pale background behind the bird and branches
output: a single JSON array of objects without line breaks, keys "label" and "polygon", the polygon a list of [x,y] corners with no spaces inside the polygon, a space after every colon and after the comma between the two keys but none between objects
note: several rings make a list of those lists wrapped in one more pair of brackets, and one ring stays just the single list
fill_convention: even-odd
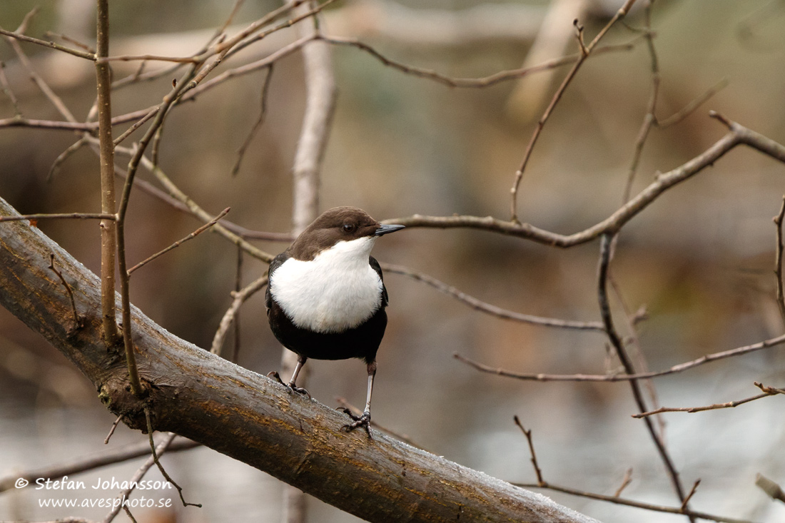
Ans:
[{"label": "blurred brown and pale background behind the bird and branches", "polygon": [[[112,54],[192,53],[222,23],[230,3],[111,2]],[[592,38],[622,2],[581,3],[581,20]],[[0,25],[13,29],[36,4],[41,9],[28,35],[51,30],[93,42],[89,0],[4,2]],[[256,20],[276,5],[246,2],[235,23]],[[328,34],[357,36],[403,63],[473,77],[519,68],[549,7],[553,5],[545,1],[356,0],[329,9],[324,27]],[[685,163],[722,136],[725,129],[707,117],[708,109],[785,143],[785,2],[659,0],[652,13],[662,77],[660,119],[723,79],[728,86],[677,126],[652,130],[633,194],[658,171]],[[546,58],[575,52],[571,22],[560,20],[568,36],[563,46],[548,49]],[[498,28],[483,31],[491,23]],[[641,9],[626,24],[617,24],[604,43],[636,38],[644,24]],[[282,31],[221,68],[264,56],[294,38],[295,30]],[[83,118],[95,96],[91,64],[37,46],[24,49],[71,111]],[[0,60],[24,115],[59,119],[8,46],[0,46]],[[338,108],[323,170],[323,210],[354,205],[378,219],[414,213],[508,218],[515,170],[566,68],[480,90],[403,75],[358,49],[334,48],[333,61]],[[115,78],[133,70],[131,64],[118,63]],[[228,218],[239,225],[286,232],[290,168],[305,98],[298,53],[276,63],[265,124],[239,173],[231,174],[237,148],[260,111],[264,76],[239,77],[173,111],[159,164],[206,210],[217,214],[232,207]],[[157,103],[171,81],[164,77],[117,91],[113,113]],[[584,65],[547,123],[524,175],[521,221],[576,232],[619,207],[650,90],[650,57],[640,39],[629,52],[606,53]],[[0,118],[13,114],[8,98],[0,96]],[[75,140],[64,131],[0,129],[0,196],[22,213],[100,210],[98,162],[88,149],[73,155],[47,181],[57,155]],[[119,157],[117,163],[125,161]],[[144,172],[141,177],[152,180]],[[780,335],[771,218],[783,192],[781,164],[736,149],[671,189],[623,229],[613,275],[632,311],[641,305],[648,309],[648,320],[639,324],[637,334],[650,368],[668,368]],[[98,272],[96,223],[40,221],[38,226]],[[191,216],[134,192],[126,233],[130,262],[198,226]],[[262,242],[260,247],[277,253],[286,244]],[[411,229],[385,237],[374,256],[521,313],[597,320],[597,251],[597,242],[561,251],[487,232]],[[166,329],[209,347],[231,302],[236,258],[232,245],[219,236],[199,236],[134,274],[133,303]],[[265,270],[264,264],[245,257],[243,282]],[[642,422],[629,416],[634,406],[625,384],[518,382],[480,375],[452,358],[461,353],[512,371],[603,373],[617,364],[608,362],[601,335],[499,320],[403,276],[388,275],[385,282],[390,320],[378,357],[374,420],[464,465],[510,481],[532,481],[528,449],[512,422],[517,414],[534,430],[548,481],[612,493],[631,466],[627,496],[677,504]],[[613,304],[617,324],[623,326],[619,300]],[[239,363],[262,373],[278,368],[280,347],[269,332],[261,296],[246,303],[240,321]],[[769,349],[658,379],[659,400],[666,406],[697,406],[752,396],[758,392],[754,380],[782,386],[781,352]],[[336,396],[362,404],[362,364],[313,362],[311,370],[314,397],[327,404],[334,404]],[[781,405],[775,397],[732,411],[666,416],[666,439],[683,481],[691,485],[703,478],[693,499],[696,507],[755,521],[785,518],[785,511],[753,486],[756,472],[785,482]],[[10,467],[24,470],[97,452],[110,423],[89,382],[42,338],[0,310],[0,474]],[[113,444],[141,438],[120,430]],[[172,460],[170,473],[187,479],[182,483],[194,492],[188,497],[203,496],[199,501],[206,508],[155,517],[234,521],[243,514],[243,519],[277,521],[279,485],[264,474],[205,449],[167,459]],[[127,477],[134,470],[133,465],[122,467],[111,474]],[[204,475],[211,479],[203,481]],[[101,516],[47,512],[35,506],[37,496],[13,492],[0,497],[0,518]],[[677,521],[553,497],[602,521]],[[311,521],[352,520],[310,503]]]}]

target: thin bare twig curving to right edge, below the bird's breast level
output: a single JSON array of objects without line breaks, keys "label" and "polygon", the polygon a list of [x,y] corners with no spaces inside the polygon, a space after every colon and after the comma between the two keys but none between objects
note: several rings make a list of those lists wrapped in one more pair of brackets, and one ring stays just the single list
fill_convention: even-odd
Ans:
[{"label": "thin bare twig curving to right edge, below the bird's breast level", "polygon": [[537,382],[626,382],[631,379],[648,379],[656,378],[677,372],[686,371],[691,368],[698,367],[709,363],[711,361],[723,360],[729,357],[736,357],[742,354],[753,353],[761,349],[768,349],[772,346],[778,346],[785,343],[785,335],[777,336],[776,338],[767,339],[763,342],[754,343],[736,349],[725,350],[720,353],[707,354],[706,356],[699,357],[697,360],[687,361],[683,364],[674,365],[664,371],[652,372],[638,372],[637,374],[531,374],[524,372],[506,371],[502,368],[493,368],[484,364],[477,363],[476,361],[469,360],[458,353],[453,354],[456,360],[462,361],[465,364],[476,368],[478,371],[487,372],[488,374],[495,374],[506,376],[507,378],[524,379]]}]

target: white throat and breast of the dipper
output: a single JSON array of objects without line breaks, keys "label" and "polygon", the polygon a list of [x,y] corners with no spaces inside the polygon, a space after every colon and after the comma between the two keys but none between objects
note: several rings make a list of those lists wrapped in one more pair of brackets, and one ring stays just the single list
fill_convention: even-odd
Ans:
[{"label": "white throat and breast of the dipper", "polygon": [[357,327],[378,311],[382,279],[368,263],[376,238],[336,243],[310,262],[289,258],[270,292],[292,323],[316,332]]}]

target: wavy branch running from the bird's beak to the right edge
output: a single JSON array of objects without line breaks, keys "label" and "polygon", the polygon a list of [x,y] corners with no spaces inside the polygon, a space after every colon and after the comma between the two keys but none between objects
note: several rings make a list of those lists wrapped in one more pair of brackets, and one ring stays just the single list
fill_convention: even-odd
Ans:
[{"label": "wavy branch running from the bird's beak to the right edge", "polygon": [[[721,118],[714,112],[710,112],[710,116],[715,119]],[[769,155],[772,158],[785,163],[785,146],[778,144],[776,141],[773,141],[762,134],[755,133],[746,127],[740,126],[738,123],[730,122],[727,119],[725,119],[725,121],[729,125],[729,132],[714,143],[714,145],[674,170],[670,170],[665,174],[659,174],[651,185],[644,188],[637,196],[630,199],[628,203],[619,207],[611,216],[580,232],[563,235],[539,229],[534,225],[529,225],[527,223],[504,221],[493,218],[492,216],[422,216],[420,214],[414,214],[407,218],[392,218],[385,220],[384,223],[406,225],[407,228],[428,227],[448,229],[455,227],[480,229],[516,236],[518,238],[532,240],[553,247],[566,248],[581,245],[582,243],[590,242],[603,234],[619,231],[627,221],[630,221],[637,216],[637,214],[641,213],[642,210],[654,202],[663,192],[666,192],[682,181],[688,180],[707,166],[714,165],[717,159],[720,159],[725,153],[739,144],[746,144],[752,148],[758,149],[758,151],[765,155]]]}]

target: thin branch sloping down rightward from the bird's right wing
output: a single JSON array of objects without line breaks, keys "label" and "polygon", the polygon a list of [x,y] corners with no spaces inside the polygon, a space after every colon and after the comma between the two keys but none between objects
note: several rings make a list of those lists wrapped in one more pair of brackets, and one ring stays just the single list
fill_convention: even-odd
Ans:
[{"label": "thin branch sloping down rightward from the bird's right wing", "polygon": [[385,272],[392,272],[393,274],[407,276],[412,280],[421,281],[422,283],[430,285],[437,291],[447,294],[448,296],[452,296],[459,302],[466,303],[466,305],[469,305],[469,307],[472,307],[473,309],[479,310],[482,313],[490,314],[491,316],[497,316],[504,320],[520,321],[522,323],[541,325],[543,327],[558,327],[565,329],[604,332],[603,325],[598,321],[559,320],[557,318],[544,318],[542,316],[532,316],[530,314],[516,313],[511,310],[502,309],[501,307],[483,302],[469,294],[459,291],[457,288],[447,285],[447,283],[436,280],[436,278],[433,276],[429,276],[423,272],[413,271],[401,265],[390,265],[384,263],[382,264],[382,269],[384,269]]}]

